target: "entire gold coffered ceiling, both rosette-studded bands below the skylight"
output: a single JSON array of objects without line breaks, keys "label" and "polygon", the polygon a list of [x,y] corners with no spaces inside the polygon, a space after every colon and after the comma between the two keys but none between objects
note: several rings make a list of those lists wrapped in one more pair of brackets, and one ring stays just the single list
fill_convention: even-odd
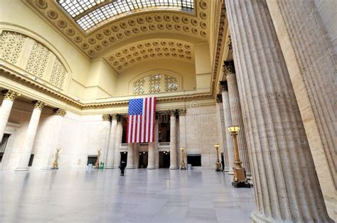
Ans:
[{"label": "entire gold coffered ceiling, both rosette-studded bands below the skylight", "polygon": [[[150,5],[141,9],[120,12],[109,18],[103,16],[105,19],[99,19],[97,20],[99,22],[92,23],[93,25],[90,28],[85,29],[79,25],[78,20],[88,13],[97,10],[99,7],[109,4],[111,6],[111,0],[97,1],[97,4],[94,6],[87,6],[87,9],[82,9],[82,11],[73,14],[67,11],[65,6],[61,5],[62,1],[23,1],[35,11],[41,13],[44,18],[50,21],[55,28],[63,33],[89,58],[99,58],[103,53],[106,54],[106,52],[112,51],[111,55],[107,57],[107,61],[109,61],[109,64],[115,70],[123,70],[134,62],[147,60],[148,58],[171,57],[191,62],[193,61],[193,50],[186,49],[185,45],[189,45],[191,49],[193,40],[197,39],[200,42],[205,42],[209,36],[210,0],[194,0],[193,10],[188,9],[188,7],[179,8],[180,6],[165,6],[164,9],[164,6],[154,7]],[[167,2],[174,3],[176,1]],[[178,36],[178,40],[154,40],[158,36],[162,38],[166,34],[168,36],[176,35]],[[144,49],[139,49],[139,52],[137,51],[139,55],[136,52],[124,55],[124,59],[119,58],[118,65],[117,60],[110,60],[112,57],[117,58],[116,53],[123,52],[123,50],[131,52],[132,47],[138,46],[129,45],[129,43],[124,46],[121,44],[123,41],[136,39],[144,35],[149,36],[153,41],[138,43],[144,45]],[[159,45],[154,45],[155,42],[158,42]],[[172,43],[173,45],[170,45]],[[178,47],[180,45],[178,43],[181,43],[181,48]],[[146,54],[142,53],[144,50],[146,50]],[[181,50],[183,51],[181,52]]]}]

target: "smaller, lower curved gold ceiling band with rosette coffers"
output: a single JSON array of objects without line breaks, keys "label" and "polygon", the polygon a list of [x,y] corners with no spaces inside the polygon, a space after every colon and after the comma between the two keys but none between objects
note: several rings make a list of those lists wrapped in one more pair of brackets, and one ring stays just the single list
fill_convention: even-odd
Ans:
[{"label": "smaller, lower curved gold ceiling band with rosette coffers", "polygon": [[193,44],[166,38],[141,40],[124,45],[105,56],[105,60],[117,72],[122,72],[139,62],[162,58],[194,63]]}]

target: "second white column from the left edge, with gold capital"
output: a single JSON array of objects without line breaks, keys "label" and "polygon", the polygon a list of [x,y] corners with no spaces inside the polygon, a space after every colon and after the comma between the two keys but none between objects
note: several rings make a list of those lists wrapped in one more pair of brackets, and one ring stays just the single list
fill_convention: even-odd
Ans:
[{"label": "second white column from the left edge, with gold capital", "polygon": [[36,131],[38,130],[38,122],[40,121],[42,108],[45,105],[46,104],[43,102],[36,102],[34,104],[33,114],[31,114],[31,121],[29,121],[27,134],[25,140],[23,141],[21,158],[16,171],[28,170],[29,158],[31,157]]}]

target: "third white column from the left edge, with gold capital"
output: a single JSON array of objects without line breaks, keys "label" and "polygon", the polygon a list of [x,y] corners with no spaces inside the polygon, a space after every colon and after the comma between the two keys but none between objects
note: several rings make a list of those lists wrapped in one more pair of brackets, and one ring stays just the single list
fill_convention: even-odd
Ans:
[{"label": "third white column from the left edge, with gold capital", "polygon": [[[46,163],[42,165],[41,168],[42,170],[50,170],[52,168],[53,162],[55,161],[56,149],[60,147],[59,146],[60,134],[65,114],[67,114],[67,112],[65,112],[65,109],[54,109],[53,122],[52,122],[53,139],[51,141],[50,147],[46,148],[48,149],[48,158],[46,158]],[[60,156],[58,158],[60,158]]]}]

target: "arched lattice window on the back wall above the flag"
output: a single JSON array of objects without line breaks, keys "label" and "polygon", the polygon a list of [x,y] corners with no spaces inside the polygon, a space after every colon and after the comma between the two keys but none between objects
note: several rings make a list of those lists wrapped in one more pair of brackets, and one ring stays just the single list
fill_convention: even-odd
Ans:
[{"label": "arched lattice window on the back wall above the flag", "polygon": [[178,75],[167,72],[151,72],[141,75],[132,82],[132,94],[156,94],[160,92],[176,92],[180,89]]}]

